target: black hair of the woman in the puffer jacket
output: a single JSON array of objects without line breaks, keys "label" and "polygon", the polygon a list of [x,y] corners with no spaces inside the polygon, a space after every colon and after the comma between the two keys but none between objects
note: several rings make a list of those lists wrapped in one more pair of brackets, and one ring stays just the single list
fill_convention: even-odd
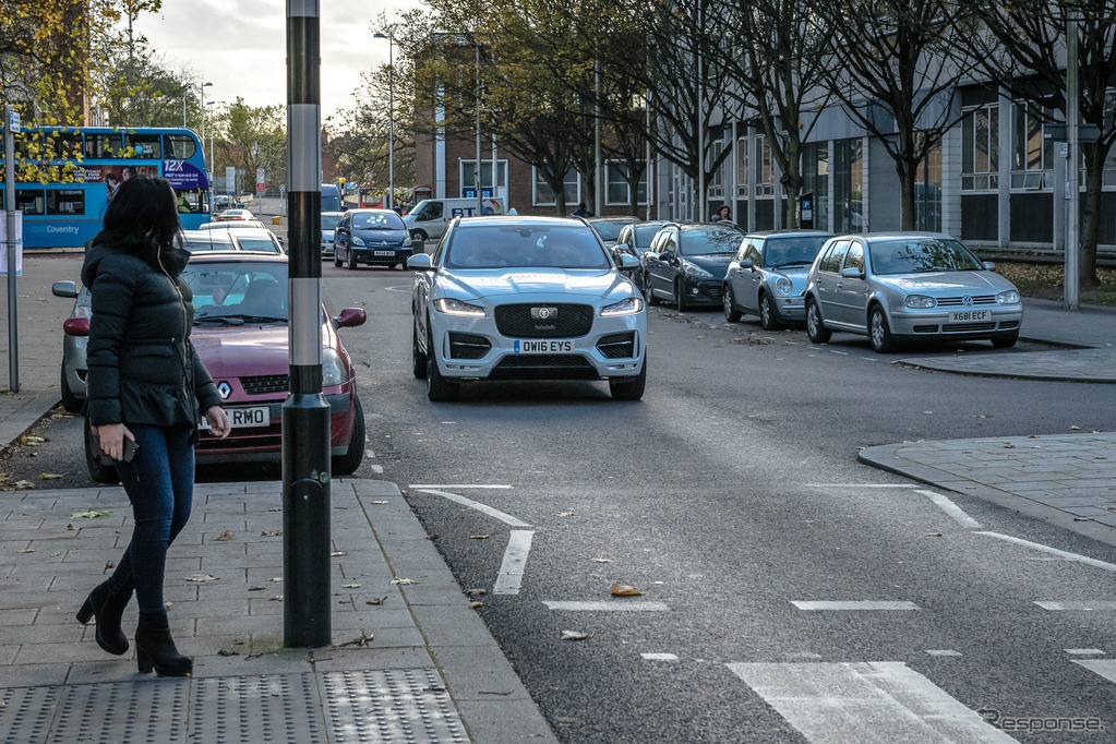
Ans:
[{"label": "black hair of the woman in the puffer jacket", "polygon": [[179,202],[166,178],[134,175],[123,181],[105,209],[105,232],[117,240],[146,239],[170,250],[179,234]]}]

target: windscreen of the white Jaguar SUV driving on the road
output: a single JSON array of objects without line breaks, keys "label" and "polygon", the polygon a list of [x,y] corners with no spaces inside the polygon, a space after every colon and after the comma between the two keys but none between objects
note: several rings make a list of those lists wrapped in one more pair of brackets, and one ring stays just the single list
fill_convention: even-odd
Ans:
[{"label": "windscreen of the white Jaguar SUV driving on the road", "polygon": [[451,269],[610,269],[593,231],[583,224],[460,226],[446,250]]}]

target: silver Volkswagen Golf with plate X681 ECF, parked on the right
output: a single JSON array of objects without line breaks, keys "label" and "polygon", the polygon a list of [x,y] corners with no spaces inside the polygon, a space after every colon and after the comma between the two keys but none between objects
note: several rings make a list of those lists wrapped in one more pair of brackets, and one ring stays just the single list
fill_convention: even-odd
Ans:
[{"label": "silver Volkswagen Golf with plate X681 ECF, parked on the right", "polygon": [[810,268],[806,334],[815,344],[835,330],[859,334],[881,354],[920,339],[1013,346],[1023,306],[993,268],[949,235],[831,238]]}]

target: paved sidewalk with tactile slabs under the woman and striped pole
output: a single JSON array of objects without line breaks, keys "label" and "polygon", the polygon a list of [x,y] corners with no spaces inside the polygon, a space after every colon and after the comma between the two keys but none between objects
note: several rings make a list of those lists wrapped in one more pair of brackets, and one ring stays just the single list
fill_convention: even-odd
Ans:
[{"label": "paved sidewalk with tactile slabs under the woman and striped pole", "polygon": [[74,618],[131,535],[123,490],[2,497],[0,742],[555,741],[392,483],[333,483],[334,645],[316,650],[282,647],[280,484],[200,485],[167,566],[180,679]]}]

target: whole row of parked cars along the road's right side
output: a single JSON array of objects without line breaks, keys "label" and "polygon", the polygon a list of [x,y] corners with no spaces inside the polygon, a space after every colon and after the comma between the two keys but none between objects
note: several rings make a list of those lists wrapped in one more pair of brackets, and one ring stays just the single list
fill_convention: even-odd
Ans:
[{"label": "whole row of parked cars along the road's right side", "polygon": [[639,259],[633,279],[648,305],[720,306],[729,322],[757,316],[768,330],[805,323],[815,344],[844,331],[878,352],[946,339],[1006,348],[1022,323],[1018,289],[945,234],[745,233],[730,222],[633,219],[613,250]]}]

